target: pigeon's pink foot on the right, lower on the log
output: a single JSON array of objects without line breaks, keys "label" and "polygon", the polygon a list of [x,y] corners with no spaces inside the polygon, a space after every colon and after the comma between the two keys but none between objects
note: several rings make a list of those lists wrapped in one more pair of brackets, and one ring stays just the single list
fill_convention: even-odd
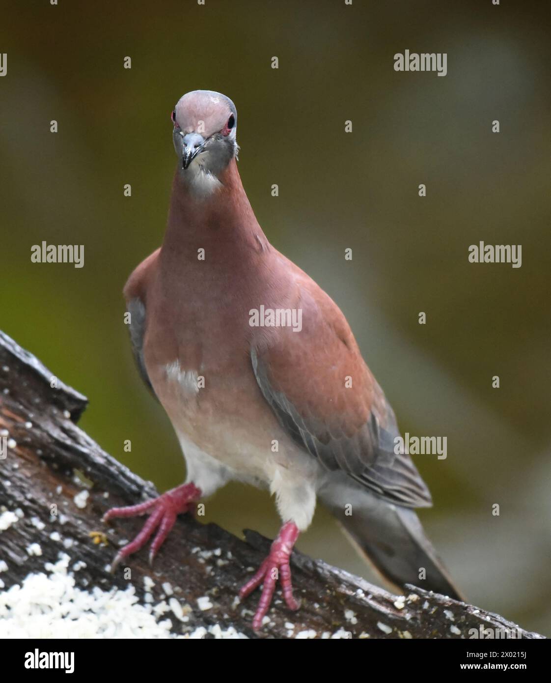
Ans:
[{"label": "pigeon's pink foot on the right, lower on the log", "polygon": [[293,610],[298,609],[298,602],[293,597],[291,568],[289,567],[289,558],[293,552],[293,546],[298,538],[298,533],[298,528],[294,522],[285,522],[276,540],[272,543],[270,555],[266,557],[253,578],[247,581],[239,591],[239,597],[242,600],[263,583],[262,596],[260,596],[255,618],[253,619],[253,629],[255,631],[262,626],[262,619],[264,619],[266,612],[270,608],[277,579],[281,580],[281,591],[283,592],[283,598],[285,598],[287,607]]}]

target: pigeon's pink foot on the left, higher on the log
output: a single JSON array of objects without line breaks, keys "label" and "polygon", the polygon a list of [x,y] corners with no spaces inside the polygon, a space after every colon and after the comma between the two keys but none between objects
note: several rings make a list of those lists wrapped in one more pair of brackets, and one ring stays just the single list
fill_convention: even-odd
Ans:
[{"label": "pigeon's pink foot on the left, higher on the log", "polygon": [[182,486],[177,486],[163,493],[158,498],[145,501],[145,503],[129,505],[128,507],[111,507],[111,510],[107,510],[102,517],[103,522],[116,517],[137,517],[147,512],[150,513],[150,516],[143,525],[143,529],[141,529],[136,538],[124,546],[124,548],[121,548],[115,556],[111,563],[111,572],[114,572],[119,563],[128,555],[132,555],[132,553],[136,553],[137,550],[143,548],[152,533],[157,530],[150,548],[151,564],[157,554],[157,550],[174,526],[176,517],[182,512],[188,512],[190,504],[193,501],[197,501],[200,497],[201,489],[197,488],[195,484],[182,484]]}]

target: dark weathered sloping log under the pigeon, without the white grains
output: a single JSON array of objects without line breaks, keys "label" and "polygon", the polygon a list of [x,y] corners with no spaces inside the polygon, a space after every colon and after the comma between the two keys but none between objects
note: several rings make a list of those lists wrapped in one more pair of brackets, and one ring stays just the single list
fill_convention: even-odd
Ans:
[{"label": "dark weathered sloping log under the pigeon, without the white grains", "polygon": [[[111,527],[104,527],[100,518],[109,507],[138,503],[155,496],[156,490],[76,426],[87,400],[60,380],[56,388],[54,380],[32,354],[0,333],[0,438],[4,445],[10,440],[7,457],[0,460],[0,512],[20,508],[25,514],[0,532],[0,559],[8,563],[1,579],[6,587],[20,583],[30,572],[44,571],[45,561],[57,561],[61,550],[73,561],[86,563],[75,574],[77,585],[125,589],[124,569],[119,567],[112,576],[109,563],[119,544],[139,531],[143,519],[115,520]],[[89,497],[85,507],[78,507],[74,496],[85,484],[91,487]],[[52,505],[57,506],[57,517],[51,517]],[[44,528],[38,528],[37,518]],[[52,531],[71,539],[70,548],[51,540]],[[93,531],[106,532],[109,545],[94,544],[89,535]],[[27,553],[32,543],[40,544],[41,557]],[[185,624],[172,619],[175,632],[220,624],[222,628],[234,626],[251,638],[289,638],[304,631],[327,637],[341,630],[352,638],[460,638],[480,626],[518,628],[503,617],[413,586],[399,600],[344,570],[294,553],[292,573],[301,609],[289,611],[277,594],[268,613],[270,623],[255,633],[250,624],[259,594],[239,604],[236,593],[248,572],[264,559],[269,545],[253,531],[246,531],[243,541],[214,524],[202,525],[191,516],[181,516],[154,568],[147,564],[147,550],[132,556],[127,563],[132,570],[130,581],[141,598],[144,576],[155,581],[155,598],[160,599],[160,585],[165,581],[174,587],[175,597],[189,616]],[[199,609],[197,598],[202,596],[210,598],[211,609]],[[345,611],[349,610],[354,615],[349,613],[347,619]],[[289,629],[286,622],[294,628]],[[524,630],[521,635],[542,637]]]}]

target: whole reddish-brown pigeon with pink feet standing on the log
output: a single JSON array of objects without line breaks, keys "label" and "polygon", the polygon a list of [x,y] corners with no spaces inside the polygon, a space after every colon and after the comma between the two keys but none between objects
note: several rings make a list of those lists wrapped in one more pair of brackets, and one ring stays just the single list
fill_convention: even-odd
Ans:
[{"label": "whole reddish-brown pigeon with pink feet standing on the log", "polygon": [[234,103],[189,92],[172,121],[178,166],[165,239],[124,294],[139,370],[171,419],[187,479],[107,512],[150,514],[114,566],[156,531],[154,557],[178,514],[238,479],[268,488],[283,520],[240,591],[263,583],[254,628],[277,579],[297,607],[289,557],[318,497],[393,583],[459,597],[412,510],[432,504],[429,491],[410,456],[395,454],[393,410],[343,313],[255,219],[236,164]]}]

